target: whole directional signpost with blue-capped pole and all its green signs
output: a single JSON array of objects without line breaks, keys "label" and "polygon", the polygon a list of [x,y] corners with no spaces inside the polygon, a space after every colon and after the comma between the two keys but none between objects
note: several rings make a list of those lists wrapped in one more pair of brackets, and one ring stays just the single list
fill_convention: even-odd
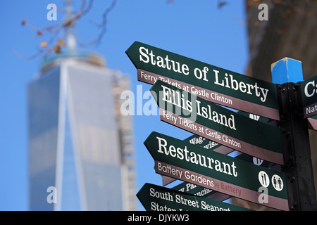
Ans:
[{"label": "whole directional signpost with blue-capped pole and all its green signs", "polygon": [[[195,196],[215,192],[279,210],[317,210],[308,134],[317,130],[317,76],[302,81],[300,61],[273,63],[271,83],[137,41],[126,53],[137,79],[153,84],[160,119],[197,135],[181,141],[152,132],[144,141],[156,173],[188,189],[145,184],[137,197],[147,210],[244,210]],[[247,155],[224,155],[232,150]]]}]

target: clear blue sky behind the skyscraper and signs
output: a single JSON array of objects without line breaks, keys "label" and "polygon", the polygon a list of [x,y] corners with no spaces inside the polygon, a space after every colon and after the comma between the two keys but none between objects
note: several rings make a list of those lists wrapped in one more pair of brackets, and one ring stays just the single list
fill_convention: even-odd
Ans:
[{"label": "clear blue sky behind the skyscraper and signs", "polygon": [[[108,68],[130,76],[135,94],[137,85],[142,85],[143,93],[151,86],[137,82],[137,70],[125,54],[134,41],[245,74],[249,53],[244,0],[228,0],[222,8],[218,8],[218,2],[118,0],[108,14],[101,44],[87,49],[101,53]],[[21,26],[24,18],[39,28],[63,20],[60,11],[57,22],[46,19],[46,6],[50,3],[58,9],[64,7],[62,0],[0,2],[0,210],[27,210],[26,87],[38,74],[42,57],[25,60],[13,51],[30,56],[43,40]],[[77,39],[88,42],[98,36],[99,30],[92,21],[100,23],[101,14],[110,4],[110,0],[94,2],[92,10],[76,26]],[[161,185],[161,175],[155,174],[154,160],[143,144],[151,131],[177,139],[191,134],[161,122],[154,115],[135,115],[133,124],[138,191],[146,182]],[[140,204],[139,210],[143,210]]]}]

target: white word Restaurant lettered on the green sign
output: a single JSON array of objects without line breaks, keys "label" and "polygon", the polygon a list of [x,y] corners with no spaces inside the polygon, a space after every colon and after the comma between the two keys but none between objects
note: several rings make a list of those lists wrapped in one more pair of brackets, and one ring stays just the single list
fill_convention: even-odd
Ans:
[{"label": "white word Restaurant lettered on the green sign", "polygon": [[[158,153],[164,155],[170,155],[170,157],[177,158],[178,160],[185,160],[187,162],[191,162],[195,165],[200,165],[201,167],[206,167],[209,169],[215,169],[216,172],[220,172],[223,174],[228,174],[230,176],[238,176],[236,171],[237,167],[235,166],[235,162],[231,164],[228,162],[220,162],[220,160],[216,160],[213,158],[209,158],[208,156],[201,155],[199,153],[194,153],[187,150],[187,146],[185,148],[177,148],[173,145],[168,145],[168,141],[166,139],[156,137],[159,141],[159,149]],[[174,171],[175,174],[180,174],[180,172]],[[186,176],[185,172],[185,176]],[[180,174],[180,176],[182,176]],[[213,186],[213,184],[211,184]]]}]

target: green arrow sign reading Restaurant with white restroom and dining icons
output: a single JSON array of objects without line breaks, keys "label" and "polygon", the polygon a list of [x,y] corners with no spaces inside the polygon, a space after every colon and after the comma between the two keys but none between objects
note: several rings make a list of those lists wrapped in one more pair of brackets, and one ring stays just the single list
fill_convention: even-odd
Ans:
[{"label": "green arrow sign reading Restaurant with white restroom and dining icons", "polygon": [[144,145],[156,173],[253,203],[288,210],[285,174],[152,132]]}]

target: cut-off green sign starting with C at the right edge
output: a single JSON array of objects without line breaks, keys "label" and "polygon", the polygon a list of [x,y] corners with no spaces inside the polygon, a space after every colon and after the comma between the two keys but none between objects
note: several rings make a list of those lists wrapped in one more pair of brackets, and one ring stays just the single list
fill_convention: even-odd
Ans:
[{"label": "cut-off green sign starting with C at the right edge", "polygon": [[301,82],[304,118],[317,114],[317,76]]}]

